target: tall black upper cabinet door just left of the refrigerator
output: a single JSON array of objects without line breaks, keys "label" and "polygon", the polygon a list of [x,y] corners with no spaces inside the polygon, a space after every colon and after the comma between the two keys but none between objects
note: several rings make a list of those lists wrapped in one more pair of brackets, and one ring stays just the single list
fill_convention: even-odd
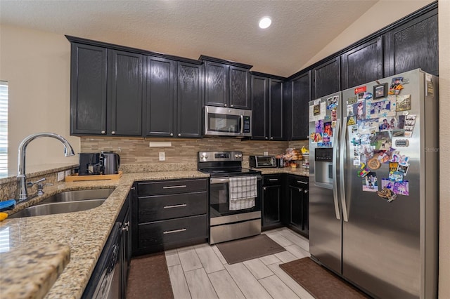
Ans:
[{"label": "tall black upper cabinet door just left of the refrigerator", "polygon": [[292,105],[290,114],[292,119],[291,140],[308,139],[309,105],[311,100],[311,72],[306,72],[292,81]]}]

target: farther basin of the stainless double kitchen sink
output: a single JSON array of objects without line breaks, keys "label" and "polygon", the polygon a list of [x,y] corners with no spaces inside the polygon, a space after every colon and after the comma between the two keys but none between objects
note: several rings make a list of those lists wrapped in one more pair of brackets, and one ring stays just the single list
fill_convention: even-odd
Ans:
[{"label": "farther basin of the stainless double kitchen sink", "polygon": [[49,198],[44,199],[38,205],[51,204],[54,202],[67,202],[67,201],[84,201],[93,199],[107,199],[114,188],[108,189],[89,189],[89,190],[74,190],[65,191],[52,195]]}]

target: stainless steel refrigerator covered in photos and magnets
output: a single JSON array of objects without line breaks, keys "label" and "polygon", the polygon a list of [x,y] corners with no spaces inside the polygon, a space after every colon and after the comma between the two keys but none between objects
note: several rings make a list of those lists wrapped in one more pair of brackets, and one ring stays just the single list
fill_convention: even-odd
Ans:
[{"label": "stainless steel refrigerator covered in photos and magnets", "polygon": [[311,258],[375,298],[436,298],[438,80],[416,69],[309,102]]}]

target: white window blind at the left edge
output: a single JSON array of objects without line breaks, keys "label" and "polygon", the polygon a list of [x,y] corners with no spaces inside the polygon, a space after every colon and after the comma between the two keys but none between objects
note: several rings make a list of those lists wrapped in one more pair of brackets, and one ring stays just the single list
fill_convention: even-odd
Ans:
[{"label": "white window blind at the left edge", "polygon": [[0,178],[8,175],[8,82],[0,81]]}]

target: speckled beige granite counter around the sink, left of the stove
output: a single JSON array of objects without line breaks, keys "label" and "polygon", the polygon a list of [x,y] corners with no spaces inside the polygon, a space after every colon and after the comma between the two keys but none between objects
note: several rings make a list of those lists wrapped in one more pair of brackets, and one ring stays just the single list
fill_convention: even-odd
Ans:
[{"label": "speckled beige granite counter around the sink, left of the stove", "polygon": [[[116,187],[116,189],[101,206],[91,210],[27,218],[7,218],[0,222],[0,234],[8,236],[2,242],[9,246],[8,253],[0,253],[0,283],[19,289],[26,288],[27,284],[37,284],[41,287],[32,295],[18,295],[17,298],[41,298],[39,294],[46,294],[45,298],[80,298],[133,182],[207,177],[208,175],[199,171],[127,173],[122,175],[120,180],[63,182],[58,186],[46,187],[44,189],[46,197],[63,190],[98,187]],[[33,202],[39,200],[41,199],[32,199]],[[11,212],[20,211],[23,206],[30,206],[30,203],[16,206]],[[23,260],[24,256],[30,259],[30,263],[33,263],[36,269],[44,267],[48,269],[48,263],[45,263],[43,255],[27,255],[27,251],[32,248],[45,251],[48,246],[58,246],[58,244],[70,248],[70,262],[59,277],[58,267],[64,265],[64,260],[68,258],[67,254],[56,255],[60,257],[60,261],[46,278],[39,277],[38,281],[32,281],[36,277],[29,275],[29,272],[25,270],[13,271],[20,267],[20,260]],[[4,263],[6,260],[8,263]],[[53,286],[51,285],[52,277],[58,277]]]}]

